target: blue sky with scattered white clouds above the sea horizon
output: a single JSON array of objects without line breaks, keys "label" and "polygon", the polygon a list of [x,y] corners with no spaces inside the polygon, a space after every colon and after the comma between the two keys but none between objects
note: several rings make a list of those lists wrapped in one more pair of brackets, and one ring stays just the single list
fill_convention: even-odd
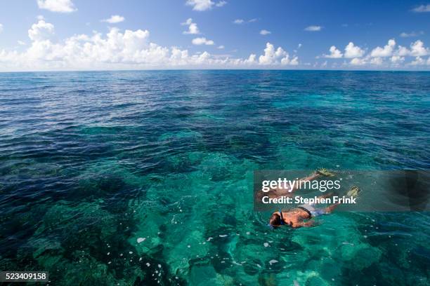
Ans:
[{"label": "blue sky with scattered white clouds above the sea horizon", "polygon": [[14,0],[1,6],[0,71],[430,69],[430,3],[420,1]]}]

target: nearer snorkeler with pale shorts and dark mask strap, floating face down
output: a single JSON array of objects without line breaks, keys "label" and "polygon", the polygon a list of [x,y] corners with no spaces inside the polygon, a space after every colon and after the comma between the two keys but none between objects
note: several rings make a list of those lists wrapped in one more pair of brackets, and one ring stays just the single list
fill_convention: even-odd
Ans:
[{"label": "nearer snorkeler with pale shorts and dark mask strap, floating face down", "polygon": [[[360,189],[358,188],[358,186],[352,186],[351,189],[348,191],[347,195],[356,197],[358,196],[359,192]],[[323,196],[319,196],[318,198],[327,198],[333,195],[334,193],[327,193]],[[315,208],[314,204],[304,204],[299,205],[292,210],[279,210],[278,212],[273,212],[268,226],[270,226],[271,228],[276,228],[282,225],[286,225],[291,226],[294,229],[302,226],[314,226],[315,222],[311,221],[310,219],[318,217],[322,214],[330,214],[338,205],[339,203],[335,203],[333,205],[329,205],[328,207]]]}]

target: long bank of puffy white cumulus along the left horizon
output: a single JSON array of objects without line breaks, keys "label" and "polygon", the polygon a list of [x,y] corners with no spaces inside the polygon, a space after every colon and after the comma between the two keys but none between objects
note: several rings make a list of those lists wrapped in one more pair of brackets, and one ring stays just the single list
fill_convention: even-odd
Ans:
[{"label": "long bank of puffy white cumulus along the left horizon", "polygon": [[[190,54],[175,46],[160,46],[150,41],[150,32],[145,29],[122,31],[113,27],[107,34],[75,34],[63,40],[54,38],[54,32],[53,24],[39,20],[28,30],[30,43],[24,51],[0,50],[0,70],[235,68],[299,64],[297,56],[290,57],[286,50],[275,48],[271,43],[266,43],[262,55],[252,53],[243,59],[211,55],[207,51]],[[213,44],[207,39],[198,41],[202,45]]]}]

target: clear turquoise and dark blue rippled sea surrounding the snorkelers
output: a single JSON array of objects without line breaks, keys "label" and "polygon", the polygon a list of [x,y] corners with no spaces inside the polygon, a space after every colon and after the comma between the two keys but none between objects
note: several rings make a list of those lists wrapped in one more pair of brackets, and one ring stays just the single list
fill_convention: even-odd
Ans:
[{"label": "clear turquoise and dark blue rippled sea surrounding the snorkelers", "polygon": [[429,212],[273,231],[252,191],[254,170],[429,169],[429,115],[429,72],[2,73],[0,271],[48,271],[48,285],[429,285]]}]

